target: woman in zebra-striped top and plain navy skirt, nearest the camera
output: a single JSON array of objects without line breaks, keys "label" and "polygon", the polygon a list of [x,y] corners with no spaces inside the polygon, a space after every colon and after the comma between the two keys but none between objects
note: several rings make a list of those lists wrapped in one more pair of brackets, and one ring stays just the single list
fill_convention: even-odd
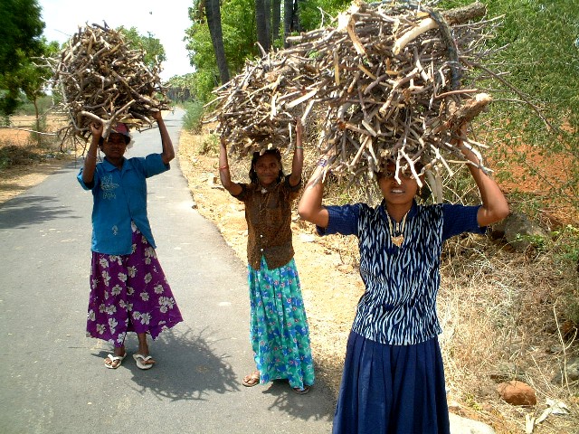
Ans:
[{"label": "woman in zebra-striped top and plain navy skirt, nearest the camera", "polygon": [[[326,158],[299,201],[299,215],[320,235],[359,239],[365,294],[347,341],[334,434],[450,432],[435,310],[442,242],[462,232],[483,233],[508,215],[503,193],[477,156],[461,140],[453,145],[474,163],[469,169],[480,205],[418,205],[412,172],[403,171],[397,181],[389,162],[377,174],[384,197],[378,206],[324,206],[324,184],[316,181]],[[422,168],[415,168],[420,174]]]}]

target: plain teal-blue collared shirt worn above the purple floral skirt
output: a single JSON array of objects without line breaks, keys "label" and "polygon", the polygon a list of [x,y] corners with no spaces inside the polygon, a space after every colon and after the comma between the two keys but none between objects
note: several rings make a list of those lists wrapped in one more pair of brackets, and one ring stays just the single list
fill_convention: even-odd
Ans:
[{"label": "plain teal-blue collared shirt worn above the purple floral skirt", "polygon": [[91,184],[82,181],[82,169],[77,179],[85,190],[92,190],[91,250],[109,255],[132,252],[132,230],[138,230],[153,248],[156,247],[147,217],[147,181],[153,175],[169,170],[160,154],[125,159],[122,168],[106,159],[96,166]]}]

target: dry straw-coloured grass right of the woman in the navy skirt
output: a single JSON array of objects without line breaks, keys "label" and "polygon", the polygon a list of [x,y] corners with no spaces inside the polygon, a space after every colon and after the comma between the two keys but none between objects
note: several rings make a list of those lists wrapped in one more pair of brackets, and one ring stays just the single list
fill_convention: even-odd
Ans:
[{"label": "dry straw-coloured grass right of the woman in the navy skirt", "polygon": [[[441,267],[439,316],[452,399],[498,432],[525,432],[526,416],[538,417],[547,399],[564,401],[571,414],[551,416],[533,432],[576,432],[579,384],[553,381],[564,360],[579,354],[557,327],[558,307],[577,291],[574,269],[562,269],[549,254],[528,259],[481,237],[451,247],[462,251]],[[498,399],[498,382],[509,380],[536,390],[536,408]]]}]

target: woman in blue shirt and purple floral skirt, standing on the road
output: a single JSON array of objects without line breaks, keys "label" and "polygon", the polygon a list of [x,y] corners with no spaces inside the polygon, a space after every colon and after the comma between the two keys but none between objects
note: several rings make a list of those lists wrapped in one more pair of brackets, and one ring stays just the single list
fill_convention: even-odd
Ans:
[{"label": "woman in blue shirt and purple floral skirt, standing on the road", "polygon": [[[155,252],[147,217],[147,178],[169,170],[175,157],[161,112],[153,113],[161,134],[161,154],[125,158],[131,140],[119,123],[103,139],[100,122],[90,125],[92,139],[78,180],[92,191],[92,264],[87,335],[114,345],[105,366],[117,369],[125,359],[125,337],[136,332],[133,358],[140,369],[155,360],[147,334],[153,339],[183,321]],[[97,164],[97,152],[104,154]]]}]

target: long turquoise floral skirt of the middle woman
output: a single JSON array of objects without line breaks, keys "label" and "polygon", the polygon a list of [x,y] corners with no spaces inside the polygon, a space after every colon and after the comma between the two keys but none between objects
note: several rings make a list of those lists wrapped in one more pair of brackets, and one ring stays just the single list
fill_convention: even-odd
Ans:
[{"label": "long turquoise floral skirt of the middle woman", "polygon": [[252,319],[250,335],[260,382],[288,380],[303,388],[314,383],[308,318],[294,259],[278,269],[248,266]]}]

